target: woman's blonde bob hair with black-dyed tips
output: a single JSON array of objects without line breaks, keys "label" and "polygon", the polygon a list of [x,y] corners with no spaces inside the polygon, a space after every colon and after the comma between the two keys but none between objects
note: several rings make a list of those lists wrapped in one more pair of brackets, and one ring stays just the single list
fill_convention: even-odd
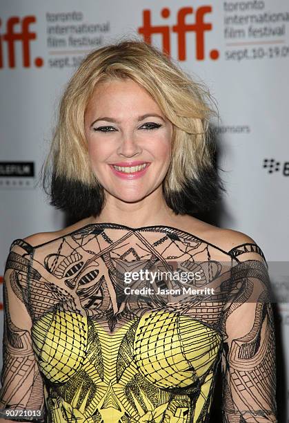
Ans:
[{"label": "woman's blonde bob hair with black-dyed tips", "polygon": [[[210,142],[208,123],[216,112],[209,106],[211,97],[208,90],[193,81],[157,48],[130,39],[92,51],[72,75],[61,98],[59,121],[44,163],[44,189],[51,162],[52,184],[70,181],[79,187],[101,190],[90,167],[84,114],[97,84],[122,78],[130,78],[145,88],[172,122],[172,156],[163,180],[163,195],[167,203],[177,201],[188,186],[206,182],[202,178],[206,178],[208,172],[212,176],[212,153],[215,147]],[[217,190],[217,185],[210,189]],[[208,189],[204,189],[206,191]],[[52,187],[50,204],[69,209],[59,205],[57,192],[59,188]],[[215,198],[216,193],[212,194],[211,200],[212,197]],[[197,202],[201,203],[201,198]],[[203,205],[205,203],[206,198],[203,198]],[[177,210],[176,204],[170,204],[170,207]]]}]

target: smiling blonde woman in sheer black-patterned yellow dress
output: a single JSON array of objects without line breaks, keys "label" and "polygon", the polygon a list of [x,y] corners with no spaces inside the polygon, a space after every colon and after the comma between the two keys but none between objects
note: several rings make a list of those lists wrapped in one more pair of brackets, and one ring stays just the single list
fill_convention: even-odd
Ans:
[{"label": "smiling blonde woman in sheer black-patterned yellow dress", "polygon": [[223,189],[206,99],[141,41],[72,76],[44,185],[52,162],[51,204],[78,221],[10,247],[6,419],[208,422],[220,362],[223,421],[277,421],[263,252],[192,216]]}]

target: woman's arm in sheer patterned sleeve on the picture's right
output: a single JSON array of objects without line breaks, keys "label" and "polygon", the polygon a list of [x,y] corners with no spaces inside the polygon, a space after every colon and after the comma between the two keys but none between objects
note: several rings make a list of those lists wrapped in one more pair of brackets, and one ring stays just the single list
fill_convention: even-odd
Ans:
[{"label": "woman's arm in sheer patterned sleeve on the picture's right", "polygon": [[238,256],[223,310],[223,422],[277,422],[275,329],[266,262]]}]

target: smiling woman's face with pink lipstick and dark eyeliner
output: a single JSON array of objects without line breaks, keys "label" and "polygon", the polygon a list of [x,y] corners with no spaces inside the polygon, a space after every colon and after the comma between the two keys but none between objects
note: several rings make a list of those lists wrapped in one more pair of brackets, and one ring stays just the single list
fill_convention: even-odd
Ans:
[{"label": "smiling woman's face with pink lipstick and dark eyeliner", "polygon": [[106,195],[129,203],[158,188],[161,195],[172,124],[144,88],[132,79],[98,84],[86,109],[85,131],[92,169]]}]

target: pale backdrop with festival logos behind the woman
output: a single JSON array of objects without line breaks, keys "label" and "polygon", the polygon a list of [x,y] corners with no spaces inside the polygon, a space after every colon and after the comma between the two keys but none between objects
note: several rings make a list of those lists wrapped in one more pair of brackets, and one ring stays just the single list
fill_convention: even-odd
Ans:
[{"label": "pale backdrop with festival logos behind the woman", "polygon": [[[278,300],[285,410],[288,0],[2,0],[0,281],[14,239],[61,229],[65,223],[37,184],[64,86],[92,49],[130,36],[166,50],[184,71],[208,86],[217,102],[220,118],[212,123],[227,188],[218,225],[251,236],[268,261]],[[2,330],[2,303],[0,308]],[[289,422],[289,413],[284,422]]]}]

